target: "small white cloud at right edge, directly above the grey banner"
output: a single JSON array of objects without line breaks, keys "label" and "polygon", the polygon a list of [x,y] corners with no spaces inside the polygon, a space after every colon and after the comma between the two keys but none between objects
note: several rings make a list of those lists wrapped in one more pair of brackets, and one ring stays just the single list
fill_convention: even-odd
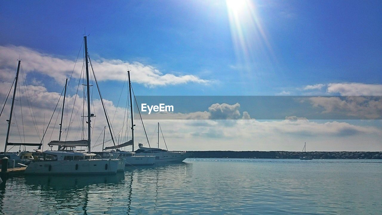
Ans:
[{"label": "small white cloud at right edge, directly above the grey banner", "polygon": [[341,96],[382,96],[382,85],[364,83],[330,83],[328,93],[339,93]]}]

